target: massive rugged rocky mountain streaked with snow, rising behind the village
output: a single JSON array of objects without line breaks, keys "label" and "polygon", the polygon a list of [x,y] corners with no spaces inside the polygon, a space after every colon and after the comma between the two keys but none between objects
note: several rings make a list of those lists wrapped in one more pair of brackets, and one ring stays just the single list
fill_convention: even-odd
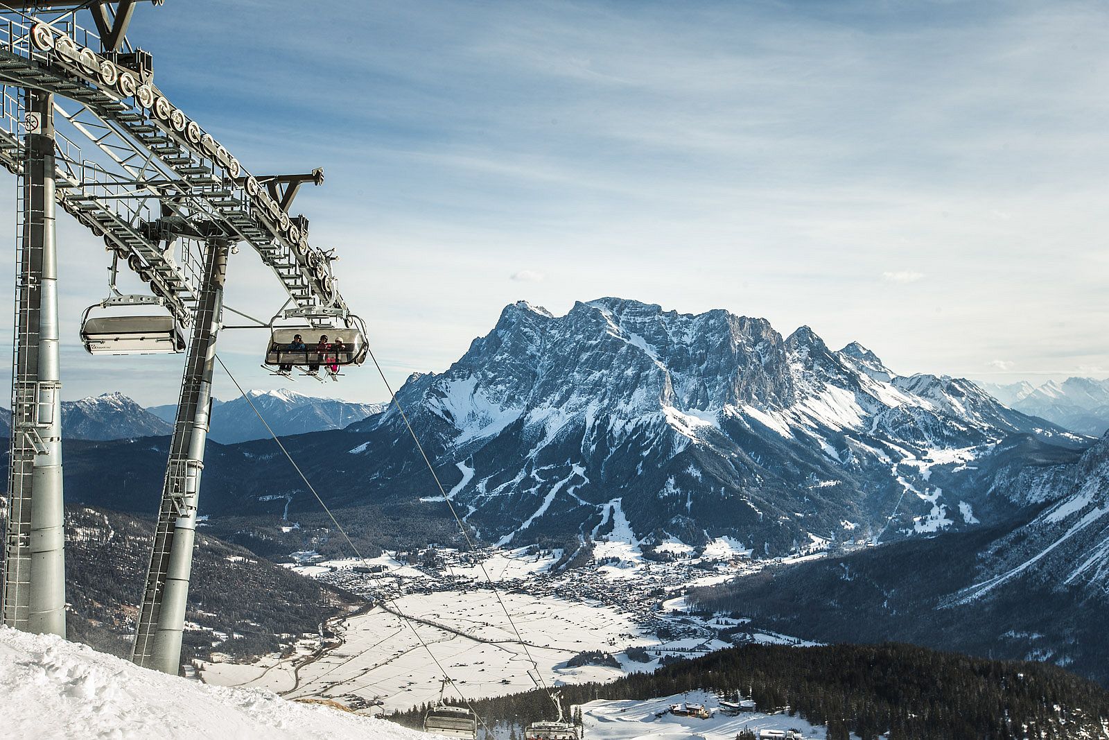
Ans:
[{"label": "massive rugged rocky mountain streaked with snow, rising behind the village", "polygon": [[[759,555],[959,529],[1024,504],[1004,485],[985,494],[1003,439],[1083,443],[967,381],[897,376],[857,343],[832,351],[807,326],[783,337],[761,318],[620,298],[566,316],[509,305],[398,397],[447,495],[502,544],[588,539],[623,518],[644,546],[726,535]],[[350,450],[370,472],[364,495],[416,475],[396,409],[349,430],[367,435]]]}]

